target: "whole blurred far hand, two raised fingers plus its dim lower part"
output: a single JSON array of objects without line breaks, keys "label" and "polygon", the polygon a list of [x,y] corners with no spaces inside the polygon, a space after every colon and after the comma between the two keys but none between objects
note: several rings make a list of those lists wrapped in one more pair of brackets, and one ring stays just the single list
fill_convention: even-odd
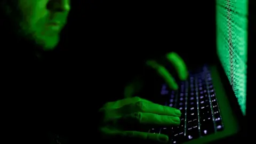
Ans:
[{"label": "whole blurred far hand, two raised fingers plus its dim lower part", "polygon": [[[146,66],[150,69],[153,69],[159,77],[161,77],[167,85],[169,85],[170,89],[177,90],[178,85],[175,82],[175,79],[172,74],[178,74],[178,78],[181,81],[185,81],[188,77],[188,70],[185,65],[185,62],[179,57],[177,53],[171,52],[165,55],[163,61],[159,60],[148,60],[146,62]],[[174,68],[174,71],[170,71],[166,68],[167,65],[171,65]],[[148,71],[146,71],[147,73]],[[145,86],[145,80],[151,79],[150,77],[143,77],[141,75],[135,77],[131,83],[127,84],[124,90],[124,97],[125,98],[131,98],[135,93],[139,93],[142,91],[142,89],[148,89]],[[151,81],[154,83],[154,81]],[[150,85],[150,84],[148,84]]]}]

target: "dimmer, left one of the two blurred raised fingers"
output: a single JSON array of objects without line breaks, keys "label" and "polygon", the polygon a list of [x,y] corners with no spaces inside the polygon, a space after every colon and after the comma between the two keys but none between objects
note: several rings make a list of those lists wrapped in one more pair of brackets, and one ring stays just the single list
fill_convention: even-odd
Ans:
[{"label": "dimmer, left one of the two blurred raised fingers", "polygon": [[175,82],[174,78],[165,67],[163,67],[162,65],[159,65],[154,60],[147,61],[147,65],[150,66],[151,68],[154,68],[159,74],[159,76],[161,76],[164,79],[164,81],[169,85],[171,89],[173,90],[178,89],[177,83]]}]

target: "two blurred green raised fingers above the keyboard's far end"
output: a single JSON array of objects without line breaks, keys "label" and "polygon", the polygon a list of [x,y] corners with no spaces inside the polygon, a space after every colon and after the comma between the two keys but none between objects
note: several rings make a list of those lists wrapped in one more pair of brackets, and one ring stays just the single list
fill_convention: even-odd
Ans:
[{"label": "two blurred green raised fingers above the keyboard's far end", "polygon": [[[179,57],[177,53],[171,52],[166,54],[166,60],[171,63],[171,65],[175,68],[176,72],[181,81],[185,81],[188,77],[188,70],[185,65],[185,62]],[[147,61],[147,66],[155,69],[159,76],[161,76],[164,81],[170,86],[171,89],[177,90],[178,85],[175,82],[173,76],[170,71],[168,71],[165,66],[161,65],[156,60]]]}]

